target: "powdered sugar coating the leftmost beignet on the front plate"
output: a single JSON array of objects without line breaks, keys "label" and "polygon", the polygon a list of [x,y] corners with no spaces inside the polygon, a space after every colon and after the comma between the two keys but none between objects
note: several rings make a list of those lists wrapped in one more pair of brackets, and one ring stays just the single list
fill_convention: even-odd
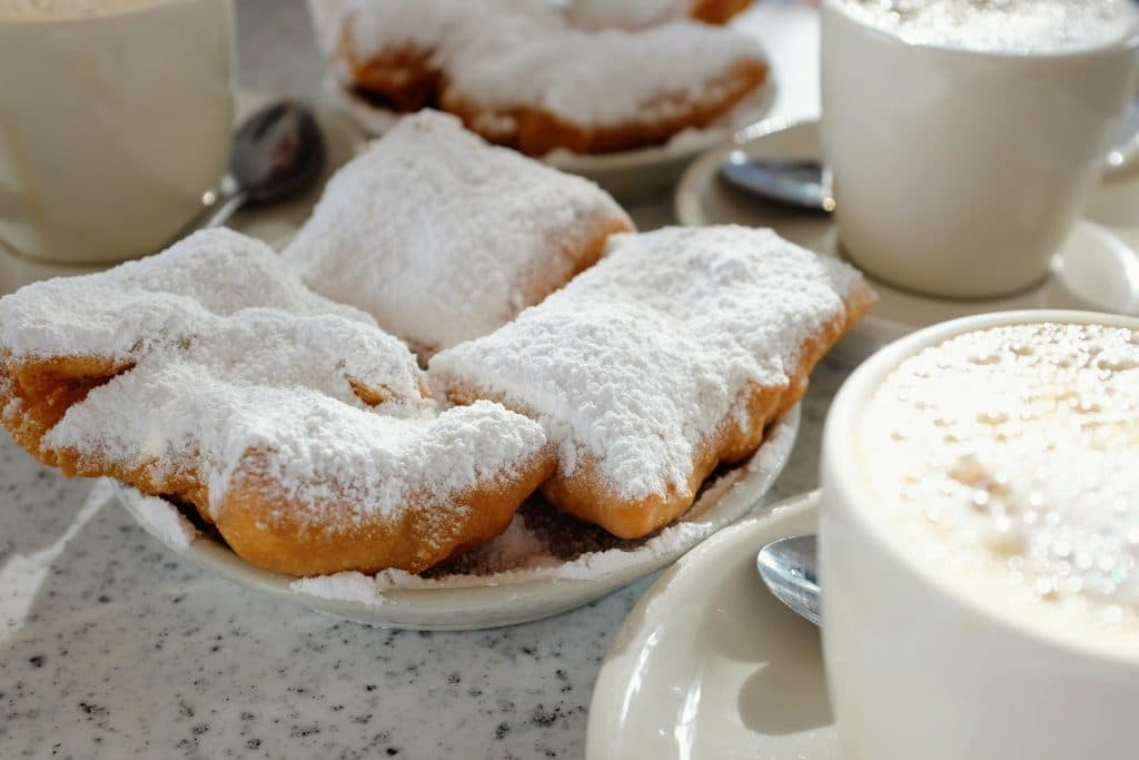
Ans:
[{"label": "powdered sugar coating the leftmost beignet on the front plate", "polygon": [[159,483],[189,476],[214,516],[235,479],[252,476],[314,528],[395,516],[412,496],[446,518],[461,508],[449,499],[544,446],[535,423],[498,404],[440,412],[407,346],[233,232],[28,286],[0,314],[28,356],[130,360],[44,434],[46,450]]}]

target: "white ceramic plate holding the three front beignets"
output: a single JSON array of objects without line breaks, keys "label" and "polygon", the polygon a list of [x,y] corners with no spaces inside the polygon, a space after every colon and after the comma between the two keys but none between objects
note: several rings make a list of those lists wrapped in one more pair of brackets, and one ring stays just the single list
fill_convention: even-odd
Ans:
[{"label": "white ceramic plate holding the three front beignets", "polygon": [[[543,569],[541,577],[533,573],[516,578],[509,573],[490,578],[456,575],[443,579],[448,587],[388,587],[367,599],[326,598],[303,591],[293,578],[245,563],[223,544],[203,533],[192,536],[189,541],[177,536],[172,539],[171,531],[163,525],[178,517],[167,512],[156,520],[154,500],[132,488],[120,488],[120,498],[139,524],[172,551],[210,572],[270,596],[384,628],[494,628],[547,618],[598,599],[671,564],[708,534],[741,517],[763,498],[782,472],[795,443],[798,422],[796,406],[772,426],[768,440],[749,463],[722,474],[677,521],[682,523],[677,533],[680,540],[671,541],[667,550],[638,550],[637,545],[625,544],[599,557],[591,554],[592,547],[584,545],[575,549],[580,554],[572,578],[559,577],[555,566]],[[587,555],[593,562],[583,566],[580,559]],[[364,579],[357,575],[354,580]],[[461,587],[456,587],[460,583]]]}]

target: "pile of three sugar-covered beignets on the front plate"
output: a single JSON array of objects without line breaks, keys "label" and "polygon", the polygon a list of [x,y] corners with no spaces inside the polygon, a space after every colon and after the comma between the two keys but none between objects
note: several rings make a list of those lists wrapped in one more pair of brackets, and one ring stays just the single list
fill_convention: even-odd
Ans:
[{"label": "pile of three sugar-covered beignets on the front plate", "polygon": [[[420,572],[539,488],[644,537],[759,448],[872,295],[770,230],[611,235],[630,227],[595,186],[424,114],[337,174],[286,253],[380,326],[203,231],[0,299],[0,418],[285,573]],[[424,373],[401,337],[444,350]]]}]

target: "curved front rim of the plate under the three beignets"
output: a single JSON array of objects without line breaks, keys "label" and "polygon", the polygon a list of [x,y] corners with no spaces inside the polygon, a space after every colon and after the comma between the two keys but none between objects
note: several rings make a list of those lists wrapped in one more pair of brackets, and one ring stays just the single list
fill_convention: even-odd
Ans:
[{"label": "curved front rim of the plate under the three beignets", "polygon": [[[385,602],[378,605],[328,599],[295,590],[290,588],[290,583],[296,578],[254,567],[229,548],[200,534],[188,546],[179,546],[139,516],[138,505],[145,495],[120,481],[112,482],[120,502],[148,534],[179,557],[238,586],[368,626],[411,630],[477,630],[541,620],[589,604],[666,567],[704,540],[730,528],[756,507],[786,467],[798,439],[801,418],[800,404],[795,404],[779,418],[776,434],[768,438],[752,460],[743,467],[760,457],[772,458],[771,464],[745,472],[719,497],[716,506],[730,499],[728,506],[732,509],[722,516],[716,515],[719,520],[711,522],[719,524],[703,539],[686,542],[679,549],[650,555],[644,562],[604,573],[596,579],[531,579],[461,588],[392,589],[385,593]],[[772,449],[772,446],[777,448]],[[714,508],[710,507],[710,510]]]}]

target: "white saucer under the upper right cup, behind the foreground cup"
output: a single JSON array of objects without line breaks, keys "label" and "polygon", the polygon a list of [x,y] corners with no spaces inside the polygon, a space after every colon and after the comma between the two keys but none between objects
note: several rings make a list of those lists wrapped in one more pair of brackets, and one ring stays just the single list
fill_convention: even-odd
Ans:
[{"label": "white saucer under the upper right cup, behind the foreground cup", "polygon": [[[767,202],[724,183],[719,167],[732,150],[749,156],[821,158],[818,123],[768,121],[737,132],[693,163],[677,189],[675,212],[682,224],[739,223],[771,227],[819,253],[837,256],[837,236],[827,215]],[[1128,277],[1139,270],[1139,255],[1117,235],[1090,221],[1080,222],[1056,258],[1055,273],[1032,291],[1005,299],[935,299],[871,280],[879,302],[855,329],[887,343],[915,329],[967,314],[1015,309],[1092,309],[1139,314],[1139,292]]]}]

